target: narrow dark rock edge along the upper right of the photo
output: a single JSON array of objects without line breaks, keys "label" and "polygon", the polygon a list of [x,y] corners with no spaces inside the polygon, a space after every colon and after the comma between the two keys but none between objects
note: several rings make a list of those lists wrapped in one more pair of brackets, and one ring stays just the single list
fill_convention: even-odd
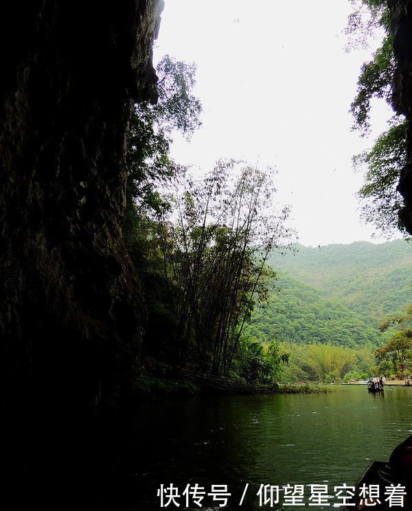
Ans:
[{"label": "narrow dark rock edge along the upper right of the photo", "polygon": [[388,0],[394,32],[397,60],[393,78],[393,107],[409,121],[407,165],[402,171],[398,190],[404,197],[400,220],[412,234],[412,1]]}]

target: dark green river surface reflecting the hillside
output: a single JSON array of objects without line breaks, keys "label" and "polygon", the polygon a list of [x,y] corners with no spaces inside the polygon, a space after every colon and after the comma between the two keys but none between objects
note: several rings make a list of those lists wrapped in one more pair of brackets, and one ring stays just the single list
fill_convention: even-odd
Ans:
[{"label": "dark green river surface reflecting the hillside", "polygon": [[244,509],[258,509],[260,484],[354,484],[369,460],[388,459],[411,434],[411,398],[403,387],[380,396],[336,386],[321,395],[146,403],[136,420],[138,507],[159,509],[157,488],[171,482],[227,484],[237,503],[248,482]]}]

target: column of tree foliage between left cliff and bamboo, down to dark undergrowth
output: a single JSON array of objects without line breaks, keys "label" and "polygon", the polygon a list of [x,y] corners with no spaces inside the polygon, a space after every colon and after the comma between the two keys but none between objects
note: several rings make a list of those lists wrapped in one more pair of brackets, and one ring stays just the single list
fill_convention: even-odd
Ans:
[{"label": "column of tree foliage between left cliff and bamboo, down to dark undergrowth", "polygon": [[175,307],[179,290],[165,275],[168,229],[159,222],[172,203],[165,191],[185,169],[170,157],[172,132],[190,137],[200,126],[201,104],[193,93],[196,66],[164,56],[157,66],[159,101],[135,105],[126,151],[123,237],[143,287],[148,322],[144,352],[178,363]]}]

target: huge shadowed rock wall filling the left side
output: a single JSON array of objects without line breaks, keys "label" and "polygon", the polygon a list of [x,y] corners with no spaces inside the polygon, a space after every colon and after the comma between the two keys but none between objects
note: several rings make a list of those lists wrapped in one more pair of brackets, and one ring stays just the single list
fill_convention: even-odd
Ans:
[{"label": "huge shadowed rock wall filling the left side", "polygon": [[48,435],[130,392],[144,303],[119,227],[124,145],[133,101],[157,100],[161,8],[1,6],[1,402],[25,458],[52,416]]}]

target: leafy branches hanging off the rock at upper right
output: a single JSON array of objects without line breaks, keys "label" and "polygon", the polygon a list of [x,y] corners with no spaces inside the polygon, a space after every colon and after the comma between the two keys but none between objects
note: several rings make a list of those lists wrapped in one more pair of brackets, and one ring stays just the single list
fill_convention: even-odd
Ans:
[{"label": "leafy branches hanging off the rock at upper right", "polygon": [[[395,70],[393,34],[386,0],[353,0],[354,12],[347,25],[352,44],[367,44],[367,39],[382,33],[382,44],[372,60],[361,68],[358,91],[351,105],[354,129],[361,135],[370,130],[371,100],[383,98],[391,105],[392,80]],[[406,231],[399,220],[403,198],[397,190],[400,170],[406,162],[407,121],[394,116],[390,127],[376,139],[374,146],[354,157],[354,168],[363,172],[365,184],[359,190],[361,216],[387,237]]]}]

